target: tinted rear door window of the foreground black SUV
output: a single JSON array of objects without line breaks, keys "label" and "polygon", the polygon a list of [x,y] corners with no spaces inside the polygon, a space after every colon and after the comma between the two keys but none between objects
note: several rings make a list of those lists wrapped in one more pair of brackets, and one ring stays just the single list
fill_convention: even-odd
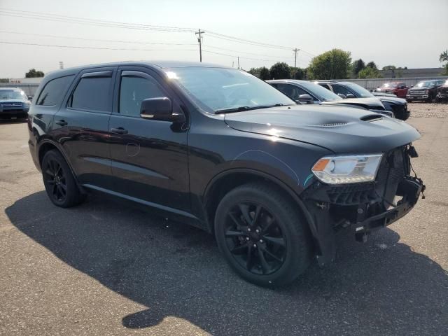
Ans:
[{"label": "tinted rear door window of the foreground black SUV", "polygon": [[81,78],[71,95],[73,109],[108,111],[112,97],[109,96],[111,77]]}]

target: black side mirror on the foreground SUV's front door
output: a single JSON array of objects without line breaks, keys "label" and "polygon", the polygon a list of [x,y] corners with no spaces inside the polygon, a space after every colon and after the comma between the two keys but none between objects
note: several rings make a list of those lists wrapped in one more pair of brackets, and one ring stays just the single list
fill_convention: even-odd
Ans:
[{"label": "black side mirror on the foreground SUV's front door", "polygon": [[184,116],[173,114],[173,104],[167,97],[144,99],[140,106],[140,116],[144,119],[162,121],[182,121]]}]

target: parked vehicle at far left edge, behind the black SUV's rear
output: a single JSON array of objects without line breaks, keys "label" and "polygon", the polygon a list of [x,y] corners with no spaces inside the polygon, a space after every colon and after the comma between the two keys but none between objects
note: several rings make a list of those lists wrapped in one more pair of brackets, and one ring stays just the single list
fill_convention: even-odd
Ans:
[{"label": "parked vehicle at far left edge, behind the black SUV's rear", "polygon": [[22,90],[17,87],[0,87],[0,118],[27,118],[30,105]]}]

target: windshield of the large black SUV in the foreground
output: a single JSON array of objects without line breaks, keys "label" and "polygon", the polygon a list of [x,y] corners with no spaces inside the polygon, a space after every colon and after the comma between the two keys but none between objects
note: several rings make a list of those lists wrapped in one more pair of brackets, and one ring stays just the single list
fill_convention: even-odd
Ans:
[{"label": "windshield of the large black SUV in the foreground", "polygon": [[192,66],[165,72],[206,111],[295,105],[279,90],[246,71]]}]

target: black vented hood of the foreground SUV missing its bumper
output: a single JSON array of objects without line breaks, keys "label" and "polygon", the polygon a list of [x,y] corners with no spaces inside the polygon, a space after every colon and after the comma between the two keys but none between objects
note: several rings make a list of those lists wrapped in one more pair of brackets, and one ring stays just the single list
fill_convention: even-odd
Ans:
[{"label": "black vented hood of the foreground SUV missing its bumper", "polygon": [[420,137],[401,120],[342,106],[281,106],[227,113],[224,120],[235,130],[301,141],[339,154],[384,153]]}]

